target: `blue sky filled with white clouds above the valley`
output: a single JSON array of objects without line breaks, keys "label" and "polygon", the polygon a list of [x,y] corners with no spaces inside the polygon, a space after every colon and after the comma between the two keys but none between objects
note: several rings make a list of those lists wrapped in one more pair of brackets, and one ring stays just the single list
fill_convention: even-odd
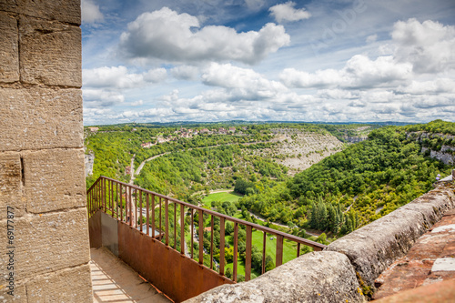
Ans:
[{"label": "blue sky filled with white clouds above the valley", "polygon": [[455,122],[452,0],[82,0],[84,124]]}]

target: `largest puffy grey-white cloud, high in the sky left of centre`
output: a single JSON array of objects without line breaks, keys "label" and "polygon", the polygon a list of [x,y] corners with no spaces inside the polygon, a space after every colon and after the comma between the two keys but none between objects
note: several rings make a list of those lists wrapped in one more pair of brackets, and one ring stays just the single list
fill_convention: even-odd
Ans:
[{"label": "largest puffy grey-white cloud, high in the sky left of centre", "polygon": [[139,15],[120,36],[119,48],[129,58],[170,62],[235,60],[256,64],[290,37],[282,25],[264,25],[258,32],[238,33],[227,26],[201,27],[196,16],[163,7]]}]

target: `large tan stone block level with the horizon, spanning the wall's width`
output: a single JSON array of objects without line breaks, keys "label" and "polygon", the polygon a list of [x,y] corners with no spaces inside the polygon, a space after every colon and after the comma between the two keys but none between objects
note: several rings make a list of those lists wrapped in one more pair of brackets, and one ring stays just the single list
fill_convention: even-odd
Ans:
[{"label": "large tan stone block level with the horizon, spanning the wall's width", "polygon": [[0,98],[0,151],[83,146],[80,89],[0,88]]}]

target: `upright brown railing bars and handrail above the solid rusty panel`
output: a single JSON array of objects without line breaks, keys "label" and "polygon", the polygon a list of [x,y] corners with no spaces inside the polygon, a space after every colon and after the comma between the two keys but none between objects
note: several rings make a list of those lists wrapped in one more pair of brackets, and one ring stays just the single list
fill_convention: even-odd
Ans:
[{"label": "upright brown railing bars and handrail above the solid rusty panel", "polygon": [[[301,253],[302,246],[313,247],[314,250],[322,250],[325,245],[310,241],[302,237],[296,237],[287,233],[263,227],[236,217],[229,217],[213,210],[198,207],[172,197],[157,194],[147,189],[126,184],[109,177],[99,177],[96,182],[87,190],[88,216],[91,217],[98,209],[101,209],[111,217],[125,222],[130,227],[140,230],[150,237],[155,237],[163,242],[163,245],[175,249],[187,258],[195,258],[194,241],[197,240],[198,251],[197,261],[204,266],[204,256],[210,258],[210,266],[207,269],[215,270],[218,275],[225,276],[225,236],[227,222],[234,225],[233,235],[233,268],[232,280],[237,282],[238,278],[238,229],[245,228],[246,231],[246,257],[245,257],[245,280],[251,278],[251,255],[253,229],[261,231],[262,236],[262,268],[261,274],[266,271],[266,239],[276,237],[276,267],[283,264],[284,240],[297,243],[296,257]],[[197,227],[195,216],[198,216]],[[210,235],[204,233],[205,216],[209,216]],[[189,218],[189,222],[186,222]],[[208,218],[207,218],[208,219]],[[219,219],[219,264],[214,267],[214,221]],[[139,221],[139,223],[137,223]],[[145,223],[144,223],[145,221]],[[177,226],[179,225],[179,230]],[[197,228],[197,234],[195,229]],[[145,229],[145,230],[143,230]],[[186,232],[187,230],[187,232]],[[198,235],[196,237],[196,235]],[[190,237],[189,252],[186,247],[186,236]],[[204,239],[210,241],[209,251],[204,251]],[[177,246],[177,240],[180,244]]]}]

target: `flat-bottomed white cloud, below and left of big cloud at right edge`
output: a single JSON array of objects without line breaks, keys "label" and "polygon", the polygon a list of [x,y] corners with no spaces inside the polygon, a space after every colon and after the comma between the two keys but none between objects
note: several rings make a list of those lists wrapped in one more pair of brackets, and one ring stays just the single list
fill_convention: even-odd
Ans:
[{"label": "flat-bottomed white cloud, below and left of big cloud at right edge", "polygon": [[396,63],[392,56],[379,56],[376,60],[356,55],[340,69],[324,69],[315,73],[286,68],[279,75],[288,87],[342,87],[369,88],[388,86],[406,80],[412,74],[409,63]]}]

